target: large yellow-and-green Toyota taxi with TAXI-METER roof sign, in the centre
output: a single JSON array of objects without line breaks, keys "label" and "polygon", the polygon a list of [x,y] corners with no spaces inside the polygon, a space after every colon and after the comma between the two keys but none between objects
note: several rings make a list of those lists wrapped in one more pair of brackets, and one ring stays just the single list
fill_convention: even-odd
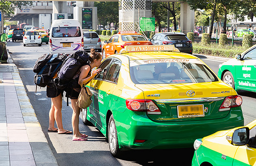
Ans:
[{"label": "large yellow-and-green Toyota taxi with TAXI-METER roof sign, in the centre", "polygon": [[113,156],[127,149],[193,147],[197,138],[243,126],[242,98],[199,58],[174,45],[126,46],[99,66],[82,110]]}]

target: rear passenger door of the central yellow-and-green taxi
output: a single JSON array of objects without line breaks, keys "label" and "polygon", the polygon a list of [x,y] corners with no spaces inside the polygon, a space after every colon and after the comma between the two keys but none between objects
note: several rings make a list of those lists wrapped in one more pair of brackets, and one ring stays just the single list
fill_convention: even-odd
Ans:
[{"label": "rear passenger door of the central yellow-and-green taxi", "polygon": [[121,61],[114,58],[108,67],[106,75],[102,81],[100,81],[97,86],[99,89],[98,97],[98,110],[96,111],[97,123],[103,129],[106,129],[106,113],[107,106],[111,102],[112,93],[117,87],[117,81],[119,76],[119,69],[121,67]]}]

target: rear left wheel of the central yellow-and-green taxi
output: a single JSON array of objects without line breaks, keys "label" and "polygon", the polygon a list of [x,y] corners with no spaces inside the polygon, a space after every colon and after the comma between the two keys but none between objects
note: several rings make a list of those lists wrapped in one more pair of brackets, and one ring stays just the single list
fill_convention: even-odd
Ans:
[{"label": "rear left wheel of the central yellow-and-green taxi", "polygon": [[121,151],[118,145],[117,128],[115,127],[113,115],[111,115],[108,122],[108,145],[110,153],[114,157],[119,157],[121,155]]}]

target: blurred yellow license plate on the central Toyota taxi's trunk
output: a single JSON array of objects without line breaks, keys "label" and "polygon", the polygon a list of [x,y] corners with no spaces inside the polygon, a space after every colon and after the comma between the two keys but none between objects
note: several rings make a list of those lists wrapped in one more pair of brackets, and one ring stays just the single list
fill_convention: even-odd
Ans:
[{"label": "blurred yellow license plate on the central Toyota taxi's trunk", "polygon": [[204,104],[178,105],[178,118],[204,117]]}]

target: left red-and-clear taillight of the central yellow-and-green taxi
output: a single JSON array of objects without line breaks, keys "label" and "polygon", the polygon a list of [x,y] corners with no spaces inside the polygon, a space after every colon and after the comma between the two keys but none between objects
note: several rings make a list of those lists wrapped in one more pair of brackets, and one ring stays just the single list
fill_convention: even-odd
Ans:
[{"label": "left red-and-clear taillight of the central yellow-and-green taxi", "polygon": [[126,107],[131,111],[147,112],[148,114],[161,114],[161,111],[152,100],[127,99]]}]

